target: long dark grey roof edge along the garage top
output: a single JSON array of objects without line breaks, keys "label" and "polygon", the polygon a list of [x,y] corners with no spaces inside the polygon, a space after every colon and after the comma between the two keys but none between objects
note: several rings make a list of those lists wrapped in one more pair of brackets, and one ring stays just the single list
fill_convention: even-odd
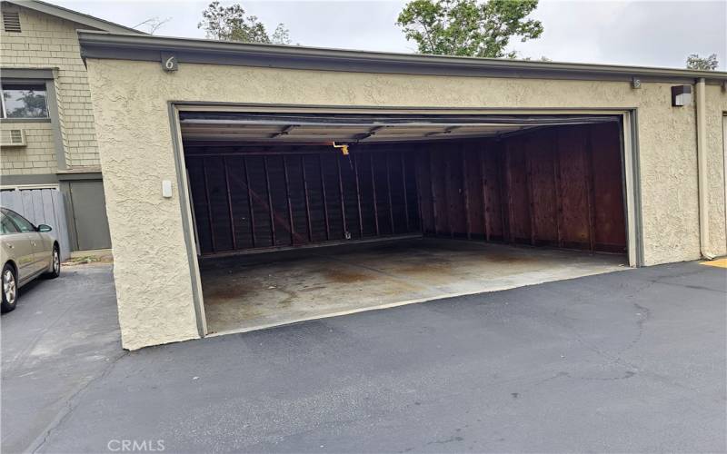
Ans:
[{"label": "long dark grey roof edge along the garage top", "polygon": [[250,44],[171,36],[78,31],[85,58],[160,61],[175,53],[179,63],[227,64],[349,72],[499,77],[631,80],[712,84],[727,73],[613,64],[573,64],[449,55],[395,54],[321,47]]}]

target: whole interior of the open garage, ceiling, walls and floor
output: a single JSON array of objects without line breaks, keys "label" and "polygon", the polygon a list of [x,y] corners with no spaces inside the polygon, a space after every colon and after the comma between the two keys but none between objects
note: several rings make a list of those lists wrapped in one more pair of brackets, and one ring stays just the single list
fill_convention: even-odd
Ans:
[{"label": "whole interior of the open garage, ceiling, walls and floor", "polygon": [[620,122],[181,112],[209,333],[625,269]]}]

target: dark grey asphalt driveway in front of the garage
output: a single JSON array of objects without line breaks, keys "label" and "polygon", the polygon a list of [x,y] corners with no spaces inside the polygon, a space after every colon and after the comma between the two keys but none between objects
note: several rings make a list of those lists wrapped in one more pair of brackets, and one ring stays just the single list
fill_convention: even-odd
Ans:
[{"label": "dark grey asphalt driveway in front of the garage", "polygon": [[4,452],[727,450],[727,272],[694,262],[125,353],[115,323],[108,267],[3,316]]}]

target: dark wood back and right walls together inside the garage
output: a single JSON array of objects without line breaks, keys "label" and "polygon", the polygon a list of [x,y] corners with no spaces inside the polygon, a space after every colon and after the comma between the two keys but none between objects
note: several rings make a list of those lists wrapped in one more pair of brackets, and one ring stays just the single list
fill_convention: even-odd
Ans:
[{"label": "dark wood back and right walls together inside the garage", "polygon": [[618,133],[616,123],[559,126],[350,156],[188,146],[186,163],[203,253],[415,232],[625,252]]}]

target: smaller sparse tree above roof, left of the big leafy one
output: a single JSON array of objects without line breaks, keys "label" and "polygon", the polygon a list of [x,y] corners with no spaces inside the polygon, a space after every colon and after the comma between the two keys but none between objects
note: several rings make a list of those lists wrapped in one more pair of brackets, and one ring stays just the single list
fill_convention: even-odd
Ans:
[{"label": "smaller sparse tree above roof, left of the big leafy one", "polygon": [[203,20],[197,24],[210,39],[243,41],[245,43],[290,44],[290,33],[283,24],[278,24],[272,36],[255,15],[245,16],[239,4],[220,5],[215,0],[202,12]]}]

